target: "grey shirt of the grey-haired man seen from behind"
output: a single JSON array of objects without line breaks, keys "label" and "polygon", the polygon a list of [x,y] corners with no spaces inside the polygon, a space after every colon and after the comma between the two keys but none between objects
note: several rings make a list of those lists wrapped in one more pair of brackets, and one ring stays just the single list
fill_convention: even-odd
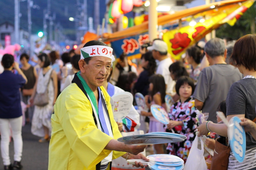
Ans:
[{"label": "grey shirt of the grey-haired man seen from behind", "polygon": [[226,100],[232,83],[241,80],[238,68],[230,64],[214,64],[204,68],[199,76],[193,98],[203,102],[203,113],[209,113],[208,120],[217,123],[216,111],[223,100]]}]

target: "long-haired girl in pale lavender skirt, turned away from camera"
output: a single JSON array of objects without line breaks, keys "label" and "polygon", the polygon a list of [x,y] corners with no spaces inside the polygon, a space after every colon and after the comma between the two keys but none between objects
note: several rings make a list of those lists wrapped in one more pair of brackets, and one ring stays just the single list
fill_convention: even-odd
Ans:
[{"label": "long-haired girl in pale lavender skirt, turned away from camera", "polygon": [[[149,95],[145,96],[146,105],[148,106],[148,108],[150,108],[152,104],[158,104],[159,106],[164,107],[164,109],[166,110],[166,105],[164,102],[166,90],[164,77],[161,74],[154,74],[150,76],[149,82]],[[150,117],[148,133],[165,131],[164,124],[156,120],[151,112],[141,111],[140,114]],[[164,154],[163,144],[154,145],[154,149],[156,151],[156,154]]]}]

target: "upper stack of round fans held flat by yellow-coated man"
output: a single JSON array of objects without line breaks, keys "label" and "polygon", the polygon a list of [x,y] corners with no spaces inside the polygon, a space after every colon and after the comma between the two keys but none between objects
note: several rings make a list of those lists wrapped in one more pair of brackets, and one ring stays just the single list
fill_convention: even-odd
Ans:
[{"label": "upper stack of round fans held flat by yellow-coated man", "polygon": [[177,133],[152,132],[144,135],[121,137],[118,139],[118,141],[124,142],[127,145],[154,145],[161,143],[182,142],[186,138],[186,136]]}]

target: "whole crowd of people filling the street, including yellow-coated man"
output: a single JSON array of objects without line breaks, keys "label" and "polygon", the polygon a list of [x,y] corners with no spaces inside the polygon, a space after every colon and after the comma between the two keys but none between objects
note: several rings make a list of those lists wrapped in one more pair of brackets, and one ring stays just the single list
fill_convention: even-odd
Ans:
[{"label": "whole crowd of people filling the street, including yellow-coated man", "polygon": [[[12,55],[2,57],[0,149],[4,169],[22,168],[23,121],[31,123],[31,133],[41,137],[38,142],[50,141],[50,170],[74,167],[105,170],[111,166],[112,157],[147,160],[138,154],[145,147],[127,147],[115,140],[121,137],[120,132],[138,131],[142,124],[148,124],[144,133],[185,135],[187,139],[183,142],[154,145],[154,153],[173,154],[185,163],[197,133],[207,136],[209,131],[215,132],[221,135],[215,138],[228,145],[227,127],[218,123],[220,119],[216,117],[216,111],[222,111],[228,121],[238,116],[247,131],[245,161],[236,161],[231,153],[228,170],[256,170],[256,125],[252,122],[256,117],[256,35],[245,35],[228,45],[220,38],[200,41],[186,49],[180,61],[172,59],[161,39],[142,45],[142,56],[134,63],[125,53],[118,59],[114,55],[89,55],[88,50],[93,47],[111,51],[100,41],[90,41],[81,54],[38,53],[34,66],[25,53],[19,58],[21,67]],[[148,108],[153,104],[162,106],[169,115],[169,124],[160,123],[150,109],[140,111],[134,106],[121,122],[114,121],[112,113],[108,114],[112,112],[109,96],[124,91],[141,93]],[[172,98],[170,109],[166,106],[166,94]],[[198,126],[196,115],[200,111],[209,116]],[[140,119],[141,116],[146,119]],[[14,140],[13,164],[8,151],[10,136]],[[205,143],[214,150],[214,137]],[[91,159],[84,160],[84,154]],[[136,166],[143,167],[140,162]]]}]

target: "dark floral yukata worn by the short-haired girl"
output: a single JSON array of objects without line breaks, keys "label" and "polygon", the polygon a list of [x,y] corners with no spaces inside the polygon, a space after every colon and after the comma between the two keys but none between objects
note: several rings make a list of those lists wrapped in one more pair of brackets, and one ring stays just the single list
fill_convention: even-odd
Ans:
[{"label": "dark floral yukata worn by the short-haired girl", "polygon": [[[176,126],[173,128],[175,133],[185,135],[186,140],[178,143],[168,143],[167,152],[172,155],[179,156],[186,162],[192,142],[196,137],[197,120],[196,107],[194,100],[188,98],[184,103],[176,102],[172,105],[169,113],[170,120],[183,121],[183,126]],[[166,132],[172,132],[166,129]]]}]

